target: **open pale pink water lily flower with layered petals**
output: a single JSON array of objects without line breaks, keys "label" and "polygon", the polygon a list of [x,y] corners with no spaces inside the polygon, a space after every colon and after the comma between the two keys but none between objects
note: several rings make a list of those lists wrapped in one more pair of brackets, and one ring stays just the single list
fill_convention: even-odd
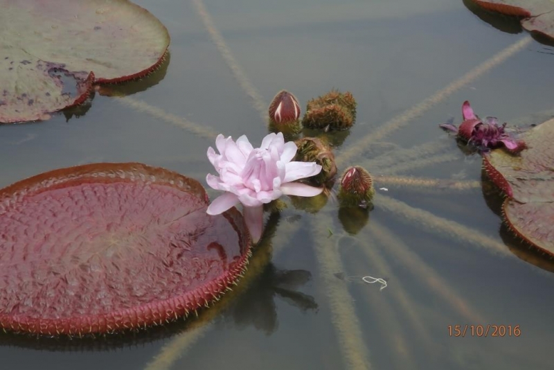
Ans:
[{"label": "open pale pink water lily flower with layered petals", "polygon": [[233,141],[222,134],[215,139],[215,146],[208,148],[208,159],[219,176],[208,174],[206,182],[212,188],[226,191],[208,206],[208,214],[220,214],[239,202],[244,206],[244,220],[253,239],[258,242],[263,229],[263,204],[281,195],[313,197],[323,191],[299,182],[298,179],[317,175],[321,166],[314,162],[292,161],[296,144],[285,143],[283,134],[265,136],[260,148],[253,148],[247,136]]}]

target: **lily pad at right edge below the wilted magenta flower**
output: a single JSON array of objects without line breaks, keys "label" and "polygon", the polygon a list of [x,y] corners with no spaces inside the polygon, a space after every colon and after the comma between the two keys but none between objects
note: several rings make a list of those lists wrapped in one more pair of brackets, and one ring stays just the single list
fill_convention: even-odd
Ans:
[{"label": "lily pad at right edge below the wilted magenta flower", "polygon": [[522,135],[528,149],[510,155],[497,149],[483,156],[489,177],[507,195],[503,204],[510,229],[554,255],[554,119]]}]

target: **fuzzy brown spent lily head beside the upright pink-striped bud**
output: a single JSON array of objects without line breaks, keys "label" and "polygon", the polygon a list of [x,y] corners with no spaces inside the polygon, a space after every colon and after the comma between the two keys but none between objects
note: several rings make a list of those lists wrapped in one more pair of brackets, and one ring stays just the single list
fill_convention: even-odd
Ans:
[{"label": "fuzzy brown spent lily head beside the upright pink-striped bud", "polygon": [[356,100],[349,91],[331,90],[307,103],[304,127],[346,130],[356,119]]}]

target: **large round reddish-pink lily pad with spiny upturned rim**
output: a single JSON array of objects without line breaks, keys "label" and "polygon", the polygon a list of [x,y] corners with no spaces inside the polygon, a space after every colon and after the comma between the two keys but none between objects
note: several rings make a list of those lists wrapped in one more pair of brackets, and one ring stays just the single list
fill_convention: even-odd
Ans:
[{"label": "large round reddish-pink lily pad with spiny upturned rim", "polygon": [[236,209],[206,214],[193,179],[143,164],[54,170],[0,190],[0,327],[46,335],[161,324],[244,270]]}]

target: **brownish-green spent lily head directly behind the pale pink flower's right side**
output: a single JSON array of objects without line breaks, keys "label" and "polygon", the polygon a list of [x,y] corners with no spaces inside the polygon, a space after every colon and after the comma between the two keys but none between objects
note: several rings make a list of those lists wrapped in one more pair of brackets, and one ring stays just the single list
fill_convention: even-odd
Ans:
[{"label": "brownish-green spent lily head directly behind the pale pink flower's right side", "polygon": [[321,172],[310,177],[310,181],[323,185],[337,175],[333,152],[323,141],[314,137],[304,137],[294,143],[298,147],[294,161],[315,162],[321,166]]}]

